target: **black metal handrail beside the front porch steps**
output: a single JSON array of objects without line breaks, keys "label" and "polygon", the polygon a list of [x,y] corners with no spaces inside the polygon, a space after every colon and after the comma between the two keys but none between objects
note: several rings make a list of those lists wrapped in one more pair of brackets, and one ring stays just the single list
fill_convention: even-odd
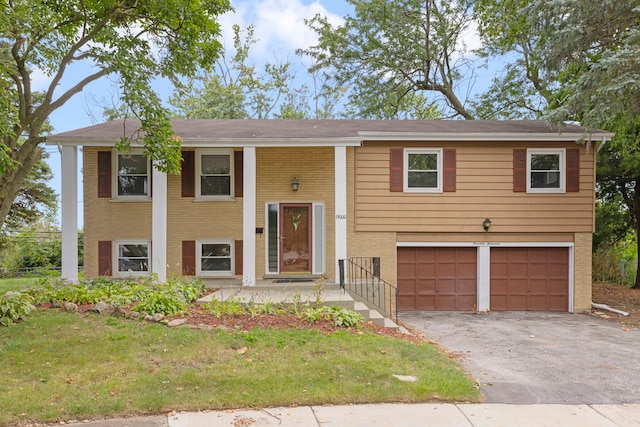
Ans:
[{"label": "black metal handrail beside the front porch steps", "polygon": [[398,321],[398,288],[380,278],[380,258],[352,257],[340,260],[340,287]]}]

